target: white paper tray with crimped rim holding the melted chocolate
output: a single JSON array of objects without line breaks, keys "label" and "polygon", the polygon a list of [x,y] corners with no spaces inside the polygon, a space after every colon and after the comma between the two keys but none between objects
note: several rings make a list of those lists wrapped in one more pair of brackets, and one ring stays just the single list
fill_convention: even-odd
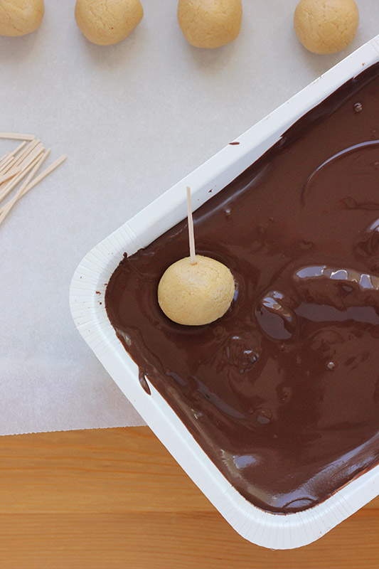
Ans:
[{"label": "white paper tray with crimped rim holding the melted chocolate", "polygon": [[[379,36],[316,79],[176,186],[124,223],[82,260],[70,287],[70,308],[80,334],[151,430],[220,514],[252,543],[273,549],[305,546],[320,538],[379,494],[379,466],[370,469],[323,503],[294,514],[262,511],[243,498],[210,461],[166,400],[149,383],[147,395],[138,368],[117,339],[105,311],[105,289],[124,252],[132,255],[186,217],[185,188],[195,209],[235,179],[301,115],[364,68],[379,61]],[[99,294],[100,292],[100,294]]]}]

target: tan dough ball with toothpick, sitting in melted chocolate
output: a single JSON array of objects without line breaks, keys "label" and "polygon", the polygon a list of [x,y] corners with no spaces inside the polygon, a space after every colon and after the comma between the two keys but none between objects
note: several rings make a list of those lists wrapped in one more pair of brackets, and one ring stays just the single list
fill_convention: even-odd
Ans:
[{"label": "tan dough ball with toothpick, sitting in melted chocolate", "polygon": [[187,326],[209,324],[222,317],[235,294],[233,275],[223,263],[196,255],[174,262],[158,285],[158,302],[169,319]]}]

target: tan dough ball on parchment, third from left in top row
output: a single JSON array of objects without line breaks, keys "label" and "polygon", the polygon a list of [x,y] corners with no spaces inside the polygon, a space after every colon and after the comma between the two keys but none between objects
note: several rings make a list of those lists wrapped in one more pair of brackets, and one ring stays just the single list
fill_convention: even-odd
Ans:
[{"label": "tan dough ball on parchment, third from left in top row", "polygon": [[179,0],[179,26],[196,48],[219,48],[235,40],[241,20],[241,0]]}]

